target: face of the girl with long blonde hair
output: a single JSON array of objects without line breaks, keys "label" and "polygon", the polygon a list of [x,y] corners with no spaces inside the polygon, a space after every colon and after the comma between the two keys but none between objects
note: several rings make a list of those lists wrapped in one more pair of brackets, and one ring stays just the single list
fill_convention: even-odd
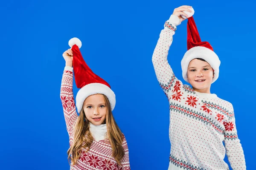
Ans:
[{"label": "face of the girl with long blonde hair", "polygon": [[84,114],[93,125],[105,122],[108,107],[102,94],[88,96],[84,100]]}]

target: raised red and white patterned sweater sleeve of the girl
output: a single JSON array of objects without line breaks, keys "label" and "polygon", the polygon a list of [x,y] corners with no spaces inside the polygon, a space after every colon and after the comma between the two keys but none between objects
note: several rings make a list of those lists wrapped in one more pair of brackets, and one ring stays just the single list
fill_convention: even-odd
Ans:
[{"label": "raised red and white patterned sweater sleeve of the girl", "polygon": [[74,125],[78,115],[73,95],[73,68],[68,66],[64,68],[61,80],[61,103],[71,145],[73,143]]}]

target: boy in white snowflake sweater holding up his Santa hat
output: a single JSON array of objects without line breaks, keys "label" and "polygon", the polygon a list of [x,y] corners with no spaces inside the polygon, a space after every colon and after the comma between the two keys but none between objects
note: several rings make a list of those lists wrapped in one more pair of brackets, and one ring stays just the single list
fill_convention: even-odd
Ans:
[{"label": "boy in white snowflake sweater holding up his Santa hat", "polygon": [[[201,42],[191,6],[176,8],[160,33],[152,62],[161,88],[169,99],[169,170],[246,170],[237,136],[233,106],[210,93],[218,78],[220,60],[209,42]],[[167,55],[176,26],[188,18],[187,48],[181,60],[183,85],[175,77]],[[225,147],[223,145],[223,141]]]}]

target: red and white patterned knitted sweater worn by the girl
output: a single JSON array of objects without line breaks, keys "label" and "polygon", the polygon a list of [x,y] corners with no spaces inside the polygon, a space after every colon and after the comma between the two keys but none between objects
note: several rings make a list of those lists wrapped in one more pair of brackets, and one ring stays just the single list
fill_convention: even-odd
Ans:
[{"label": "red and white patterned knitted sweater worn by the girl", "polygon": [[[73,68],[65,67],[64,69],[61,81],[61,102],[71,145],[74,125],[78,118],[73,96]],[[71,165],[70,170],[130,170],[128,146],[124,135],[122,146],[125,150],[122,166],[118,166],[112,157],[112,147],[108,139],[100,141],[94,139],[90,150],[86,152],[83,149],[79,160],[75,165]]]}]

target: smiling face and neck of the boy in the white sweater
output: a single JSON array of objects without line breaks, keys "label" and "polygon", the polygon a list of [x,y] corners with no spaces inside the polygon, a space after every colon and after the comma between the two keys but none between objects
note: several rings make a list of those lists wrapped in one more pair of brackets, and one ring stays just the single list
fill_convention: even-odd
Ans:
[{"label": "smiling face and neck of the boy in the white sweater", "polygon": [[189,62],[187,77],[195,91],[210,93],[213,70],[208,62],[193,59]]}]

